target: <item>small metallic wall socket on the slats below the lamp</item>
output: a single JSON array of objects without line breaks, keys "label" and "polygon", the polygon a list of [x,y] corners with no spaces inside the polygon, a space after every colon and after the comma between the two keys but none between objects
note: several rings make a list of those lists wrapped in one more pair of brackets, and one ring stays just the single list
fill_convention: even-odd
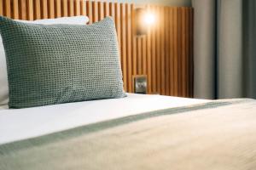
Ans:
[{"label": "small metallic wall socket on the slats below the lamp", "polygon": [[147,76],[139,75],[133,77],[135,94],[147,94]]}]

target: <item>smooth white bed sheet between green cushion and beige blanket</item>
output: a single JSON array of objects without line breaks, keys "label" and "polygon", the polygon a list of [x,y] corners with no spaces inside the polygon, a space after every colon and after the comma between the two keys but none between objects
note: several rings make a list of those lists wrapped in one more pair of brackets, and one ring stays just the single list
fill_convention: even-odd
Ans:
[{"label": "smooth white bed sheet between green cushion and beige blanket", "polygon": [[147,111],[209,101],[148,94],[127,95],[123,99],[102,99],[18,110],[0,106],[0,144]]}]

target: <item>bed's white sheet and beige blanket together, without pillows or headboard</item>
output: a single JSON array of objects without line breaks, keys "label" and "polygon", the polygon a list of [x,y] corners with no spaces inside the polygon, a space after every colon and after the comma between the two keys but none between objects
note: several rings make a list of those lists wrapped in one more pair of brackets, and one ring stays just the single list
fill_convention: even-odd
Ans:
[{"label": "bed's white sheet and beige blanket together, without pillows or headboard", "polygon": [[256,102],[128,94],[0,110],[0,169],[253,169]]}]

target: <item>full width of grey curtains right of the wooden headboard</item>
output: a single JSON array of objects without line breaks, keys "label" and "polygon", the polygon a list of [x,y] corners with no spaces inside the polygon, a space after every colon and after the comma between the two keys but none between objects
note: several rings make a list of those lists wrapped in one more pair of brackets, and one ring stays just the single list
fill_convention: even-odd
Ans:
[{"label": "full width of grey curtains right of the wooden headboard", "polygon": [[255,1],[192,0],[192,5],[195,98],[256,99]]}]

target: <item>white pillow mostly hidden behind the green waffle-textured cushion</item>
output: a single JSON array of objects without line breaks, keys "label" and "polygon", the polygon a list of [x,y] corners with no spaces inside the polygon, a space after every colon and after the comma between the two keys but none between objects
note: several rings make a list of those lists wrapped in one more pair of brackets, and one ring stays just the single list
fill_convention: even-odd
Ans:
[{"label": "white pillow mostly hidden behind the green waffle-textured cushion", "polygon": [[[32,24],[67,24],[67,25],[85,25],[88,23],[89,18],[87,16],[73,16],[62,17],[57,19],[45,19],[45,20],[16,20],[19,22],[32,23]],[[0,105],[8,105],[9,102],[9,87],[7,78],[7,65],[5,59],[5,53],[3,48],[2,37],[0,36]]]}]

